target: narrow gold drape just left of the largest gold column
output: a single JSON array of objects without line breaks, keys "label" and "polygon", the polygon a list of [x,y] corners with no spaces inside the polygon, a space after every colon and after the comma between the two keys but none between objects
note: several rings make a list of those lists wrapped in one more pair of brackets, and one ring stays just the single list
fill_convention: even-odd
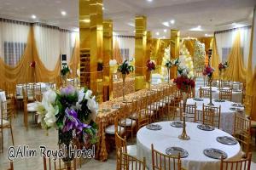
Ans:
[{"label": "narrow gold drape just left of the largest gold column", "polygon": [[80,63],[80,42],[79,35],[76,36],[75,46],[73,48],[73,55],[69,62],[69,67],[72,70],[70,77],[77,77],[77,70]]}]

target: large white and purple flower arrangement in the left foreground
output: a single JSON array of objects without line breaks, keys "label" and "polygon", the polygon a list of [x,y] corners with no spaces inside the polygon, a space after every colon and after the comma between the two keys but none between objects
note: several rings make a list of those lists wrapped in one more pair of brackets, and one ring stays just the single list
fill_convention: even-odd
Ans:
[{"label": "large white and purple flower arrangement in the left foreground", "polygon": [[77,90],[68,86],[60,91],[49,89],[37,105],[38,123],[44,129],[55,127],[58,130],[58,144],[64,152],[61,158],[67,167],[74,158],[69,150],[73,150],[77,142],[89,147],[97,141],[98,104],[91,94],[87,88]]}]

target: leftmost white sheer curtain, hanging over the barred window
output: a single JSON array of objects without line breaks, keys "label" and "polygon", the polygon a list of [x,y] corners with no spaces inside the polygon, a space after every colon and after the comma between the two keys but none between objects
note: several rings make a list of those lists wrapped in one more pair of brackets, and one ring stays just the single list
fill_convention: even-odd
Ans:
[{"label": "leftmost white sheer curtain, hanging over the barred window", "polygon": [[10,66],[15,66],[26,48],[30,24],[0,19],[0,57]]}]

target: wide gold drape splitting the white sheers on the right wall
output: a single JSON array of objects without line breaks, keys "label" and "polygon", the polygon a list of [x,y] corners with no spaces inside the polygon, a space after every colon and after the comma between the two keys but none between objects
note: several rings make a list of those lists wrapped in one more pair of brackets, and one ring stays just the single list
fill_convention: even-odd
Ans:
[{"label": "wide gold drape splitting the white sheers on the right wall", "polygon": [[237,31],[236,39],[233,43],[228,57],[229,67],[225,71],[225,77],[231,81],[243,82],[246,79],[246,69],[243,65],[241,54],[241,33]]}]

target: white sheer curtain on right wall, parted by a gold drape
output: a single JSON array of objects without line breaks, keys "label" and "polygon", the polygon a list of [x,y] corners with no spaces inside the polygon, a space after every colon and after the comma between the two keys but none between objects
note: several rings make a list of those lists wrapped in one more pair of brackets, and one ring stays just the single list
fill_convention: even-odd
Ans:
[{"label": "white sheer curtain on right wall, parted by a gold drape", "polygon": [[223,59],[226,60],[227,54],[230,53],[230,49],[232,48],[233,42],[236,38],[236,33],[240,31],[241,35],[241,48],[243,50],[243,61],[245,67],[247,67],[247,60],[249,55],[250,48],[250,38],[251,38],[251,27],[242,27],[236,30],[230,31],[220,31],[215,34],[218,55],[220,57],[220,61]]}]

